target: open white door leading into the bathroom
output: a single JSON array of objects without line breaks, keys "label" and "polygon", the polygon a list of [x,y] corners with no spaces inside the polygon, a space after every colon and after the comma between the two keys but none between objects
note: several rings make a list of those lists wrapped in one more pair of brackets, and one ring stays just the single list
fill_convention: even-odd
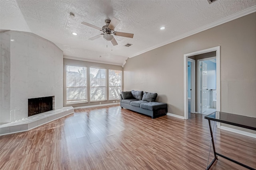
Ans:
[{"label": "open white door leading into the bathroom", "polygon": [[201,65],[202,78],[201,78],[201,113],[207,109],[207,64],[202,62]]}]

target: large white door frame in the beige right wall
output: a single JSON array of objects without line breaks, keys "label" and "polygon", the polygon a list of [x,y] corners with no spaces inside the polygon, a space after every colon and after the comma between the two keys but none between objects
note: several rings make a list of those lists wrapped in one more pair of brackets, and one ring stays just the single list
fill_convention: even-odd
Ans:
[{"label": "large white door frame in the beige right wall", "polygon": [[188,119],[188,57],[216,51],[216,111],[220,111],[220,46],[184,54],[184,119]]}]

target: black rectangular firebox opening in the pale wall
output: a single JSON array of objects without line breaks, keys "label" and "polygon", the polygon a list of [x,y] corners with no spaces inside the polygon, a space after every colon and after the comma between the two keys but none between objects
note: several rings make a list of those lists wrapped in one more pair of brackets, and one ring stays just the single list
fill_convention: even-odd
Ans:
[{"label": "black rectangular firebox opening in the pale wall", "polygon": [[28,99],[28,116],[54,110],[54,96]]}]

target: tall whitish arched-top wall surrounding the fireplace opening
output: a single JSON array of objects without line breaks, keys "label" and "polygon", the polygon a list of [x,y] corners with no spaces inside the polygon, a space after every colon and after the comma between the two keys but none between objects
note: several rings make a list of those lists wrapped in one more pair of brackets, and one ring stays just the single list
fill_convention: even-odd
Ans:
[{"label": "tall whitish arched-top wall surrounding the fireplace opening", "polygon": [[[55,96],[55,109],[62,108],[63,52],[54,43],[33,33],[1,32],[1,37],[8,35],[14,41],[8,40],[10,55],[1,53],[1,61],[10,57],[10,73],[4,72],[10,78],[10,86],[2,87],[4,82],[1,82],[0,88],[1,92],[7,90],[10,93],[10,109],[3,109],[1,105],[0,122],[8,123],[28,117],[29,98]],[[1,47],[6,43],[1,39]],[[8,96],[6,99],[8,101]]]}]

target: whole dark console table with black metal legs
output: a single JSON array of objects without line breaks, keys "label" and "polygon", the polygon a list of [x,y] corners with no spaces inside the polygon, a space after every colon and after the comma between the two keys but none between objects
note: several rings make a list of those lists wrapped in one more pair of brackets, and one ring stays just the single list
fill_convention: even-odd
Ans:
[{"label": "whole dark console table with black metal legs", "polygon": [[[248,117],[248,116],[243,116],[243,115],[235,115],[235,114],[231,114],[231,113],[224,113],[224,112],[216,111],[209,115],[206,115],[204,117],[204,119],[208,119],[208,122],[209,122],[210,133],[211,133],[211,137],[212,137],[212,147],[213,147],[213,151],[214,151],[214,159],[212,160],[212,162],[209,165],[207,164],[206,170],[209,170],[211,168],[212,164],[214,164],[214,162],[216,160],[218,160],[217,155],[221,156],[227,160],[230,160],[236,164],[239,164],[245,168],[248,168],[250,170],[256,170],[250,166],[242,164],[236,160],[233,160],[231,158],[228,158],[227,156],[224,156],[224,155],[216,152],[215,145],[214,145],[214,139],[213,139],[213,133],[212,133],[212,126],[211,126],[211,120],[212,120],[212,121],[226,123],[229,125],[234,125],[234,126],[243,127],[246,129],[251,129],[251,130],[256,131],[256,117]],[[210,150],[209,150],[209,154],[210,154]]]}]

